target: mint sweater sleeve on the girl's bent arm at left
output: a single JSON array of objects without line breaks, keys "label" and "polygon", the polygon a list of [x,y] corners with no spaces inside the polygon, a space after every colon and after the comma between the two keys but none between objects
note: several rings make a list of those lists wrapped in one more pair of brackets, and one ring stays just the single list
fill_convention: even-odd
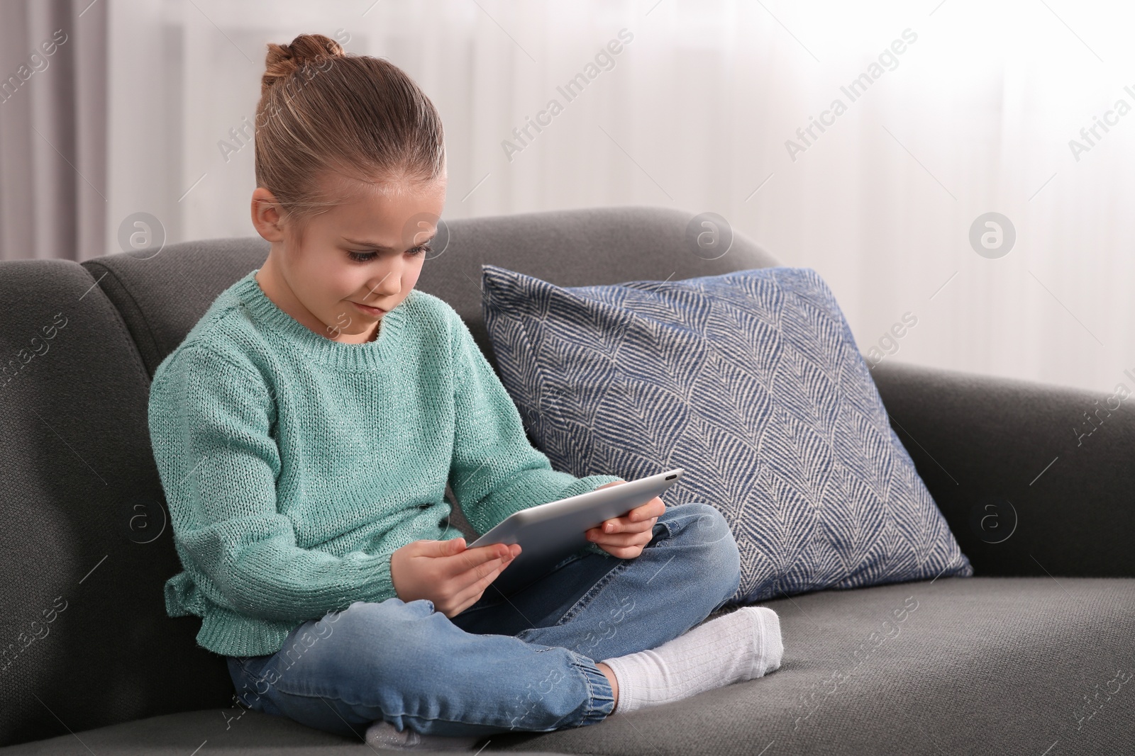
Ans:
[{"label": "mint sweater sleeve on the girl's bent arm at left", "polygon": [[233,358],[185,347],[159,368],[150,435],[183,566],[213,603],[262,619],[317,619],[394,596],[390,554],[296,545],[276,506],[274,419],[262,376]]}]

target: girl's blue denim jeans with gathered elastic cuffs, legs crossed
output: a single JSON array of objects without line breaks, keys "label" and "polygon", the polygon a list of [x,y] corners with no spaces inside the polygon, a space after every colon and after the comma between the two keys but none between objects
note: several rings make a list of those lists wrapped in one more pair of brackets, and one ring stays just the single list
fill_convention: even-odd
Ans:
[{"label": "girl's blue denim jeans with gathered elastic cuffs, legs crossed", "polygon": [[377,720],[451,737],[595,724],[615,705],[597,661],[676,638],[740,581],[709,504],[667,507],[653,536],[634,559],[585,547],[510,595],[489,585],[452,619],[427,598],[358,601],[229,673],[245,706],[345,737]]}]

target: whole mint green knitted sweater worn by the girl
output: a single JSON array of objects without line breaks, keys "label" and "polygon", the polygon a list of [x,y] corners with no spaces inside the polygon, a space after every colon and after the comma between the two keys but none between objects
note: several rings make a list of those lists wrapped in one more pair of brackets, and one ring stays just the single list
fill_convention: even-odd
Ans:
[{"label": "whole mint green knitted sweater worn by the girl", "polygon": [[[457,313],[413,290],[368,343],[312,332],[250,272],[154,373],[150,438],[184,571],[170,617],[227,656],[395,596],[390,554],[622,479],[552,469]],[[594,544],[589,547],[594,549]]]}]

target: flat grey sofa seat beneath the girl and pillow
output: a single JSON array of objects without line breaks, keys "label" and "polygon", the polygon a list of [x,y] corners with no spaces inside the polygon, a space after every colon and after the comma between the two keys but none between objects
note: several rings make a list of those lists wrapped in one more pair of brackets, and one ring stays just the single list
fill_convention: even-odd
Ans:
[{"label": "flat grey sofa seat beneath the girl and pillow", "polygon": [[[771,601],[784,637],[775,672],[622,720],[501,733],[480,753],[1129,753],[1135,681],[1111,681],[1132,673],[1135,579],[1058,580],[939,578]],[[352,742],[258,712],[233,720],[238,714],[159,716],[0,754],[184,756],[202,744],[201,756],[375,753],[361,733]]]}]

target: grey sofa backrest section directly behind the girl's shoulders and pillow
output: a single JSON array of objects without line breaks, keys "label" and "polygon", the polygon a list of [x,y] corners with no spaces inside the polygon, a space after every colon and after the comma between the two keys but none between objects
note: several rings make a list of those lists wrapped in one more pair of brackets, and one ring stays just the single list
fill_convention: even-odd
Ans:
[{"label": "grey sofa backrest section directly behind the girl's shoulders and pillow", "polygon": [[[676,281],[777,264],[741,235],[724,254],[699,250],[689,238],[693,218],[669,207],[592,207],[456,220],[443,224],[415,288],[449,303],[496,367],[481,314],[481,264],[558,286]],[[123,314],[153,375],[217,295],[263,264],[268,248],[259,236],[207,239],[83,266]]]}]

